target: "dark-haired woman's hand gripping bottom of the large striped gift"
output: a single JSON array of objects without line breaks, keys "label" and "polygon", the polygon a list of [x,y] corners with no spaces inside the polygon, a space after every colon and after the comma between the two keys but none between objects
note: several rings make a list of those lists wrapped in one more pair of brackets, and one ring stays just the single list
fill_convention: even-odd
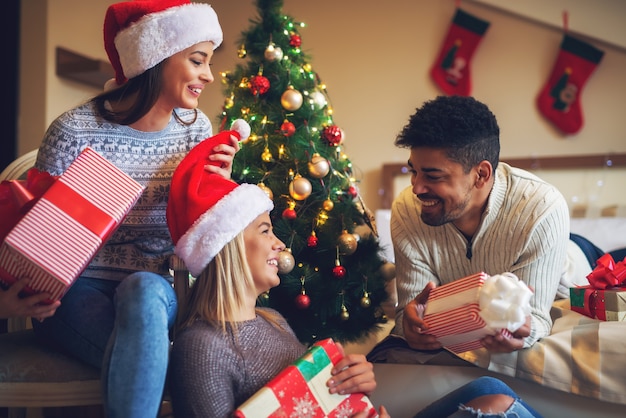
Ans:
[{"label": "dark-haired woman's hand gripping bottom of the large striped gift", "polygon": [[41,304],[41,302],[50,298],[50,294],[37,293],[20,298],[20,292],[29,281],[29,279],[21,278],[7,290],[0,289],[0,318],[31,316],[42,321],[44,318],[54,315],[56,309],[61,305],[60,301],[54,301],[49,305]]}]

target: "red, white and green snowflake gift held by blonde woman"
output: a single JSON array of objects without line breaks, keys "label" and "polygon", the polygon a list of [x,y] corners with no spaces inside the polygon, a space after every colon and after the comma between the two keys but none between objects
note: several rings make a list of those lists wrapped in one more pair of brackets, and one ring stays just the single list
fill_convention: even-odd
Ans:
[{"label": "red, white and green snowflake gift held by blonde woman", "polygon": [[350,417],[368,411],[378,413],[367,395],[330,394],[326,381],[342,356],[330,338],[318,341],[235,411],[237,418]]}]

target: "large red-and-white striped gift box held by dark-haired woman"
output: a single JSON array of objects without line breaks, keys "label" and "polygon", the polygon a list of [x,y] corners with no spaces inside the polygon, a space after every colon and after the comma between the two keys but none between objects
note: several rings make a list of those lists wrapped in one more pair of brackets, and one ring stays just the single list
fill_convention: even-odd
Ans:
[{"label": "large red-and-white striped gift box held by dark-haired woman", "polygon": [[0,245],[0,281],[60,299],[122,223],[144,187],[86,148]]}]

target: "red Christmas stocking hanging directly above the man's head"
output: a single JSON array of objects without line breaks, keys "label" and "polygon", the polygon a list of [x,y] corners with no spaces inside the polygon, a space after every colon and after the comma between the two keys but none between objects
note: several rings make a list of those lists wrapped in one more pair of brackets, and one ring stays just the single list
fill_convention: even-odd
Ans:
[{"label": "red Christmas stocking hanging directly above the man's head", "polygon": [[456,10],[439,56],[430,70],[437,85],[448,95],[469,96],[472,85],[470,60],[489,22]]}]

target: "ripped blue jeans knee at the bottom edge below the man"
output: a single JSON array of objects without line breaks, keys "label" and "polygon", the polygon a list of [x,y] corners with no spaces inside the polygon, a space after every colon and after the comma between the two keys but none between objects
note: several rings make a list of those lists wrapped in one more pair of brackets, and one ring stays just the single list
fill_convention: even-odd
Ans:
[{"label": "ripped blue jeans knee at the bottom edge below the man", "polygon": [[[513,404],[501,413],[485,413],[466,407],[464,404],[472,399],[483,395],[502,394],[514,399]],[[443,398],[433,402],[417,413],[414,418],[432,417],[516,417],[516,418],[541,418],[541,415],[533,410],[529,405],[504,382],[493,377],[483,376],[461,386],[448,393]]]}]

